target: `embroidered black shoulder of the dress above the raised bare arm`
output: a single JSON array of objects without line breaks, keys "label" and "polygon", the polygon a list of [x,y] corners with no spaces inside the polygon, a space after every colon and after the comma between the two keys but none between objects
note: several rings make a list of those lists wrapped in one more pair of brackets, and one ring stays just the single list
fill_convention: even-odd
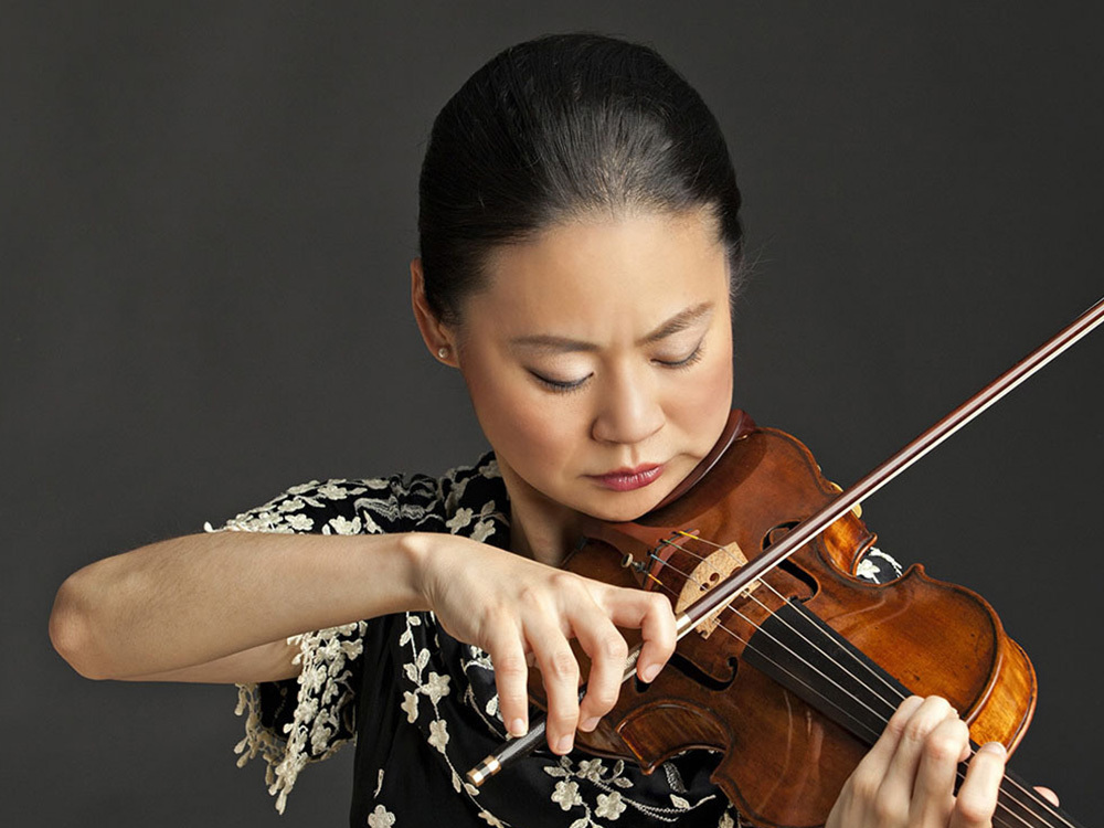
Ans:
[{"label": "embroidered black shoulder of the dress above the raised bare arm", "polygon": [[[463,510],[505,506],[506,488],[493,454],[440,477],[396,474],[332,478],[293,486],[265,503],[238,513],[217,531],[317,534],[379,534],[449,531]],[[497,501],[497,502],[496,502]],[[210,524],[208,531],[216,531]]]}]

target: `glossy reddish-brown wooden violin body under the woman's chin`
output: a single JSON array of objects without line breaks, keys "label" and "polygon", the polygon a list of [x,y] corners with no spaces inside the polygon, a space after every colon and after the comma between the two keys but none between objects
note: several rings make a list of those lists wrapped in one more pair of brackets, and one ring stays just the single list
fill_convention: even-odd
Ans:
[{"label": "glossy reddish-brown wooden violin body under the woman's chin", "polygon": [[[719,445],[652,512],[586,526],[564,567],[661,591],[681,612],[839,491],[797,439],[741,412]],[[845,514],[682,638],[655,682],[626,682],[577,744],[649,772],[688,750],[719,752],[713,782],[760,826],[822,825],[910,693],[943,696],[974,742],[1013,750],[1037,694],[1027,656],[980,596],[919,565],[887,584],[857,577],[874,540]],[[543,705],[539,678],[530,690]]]}]

